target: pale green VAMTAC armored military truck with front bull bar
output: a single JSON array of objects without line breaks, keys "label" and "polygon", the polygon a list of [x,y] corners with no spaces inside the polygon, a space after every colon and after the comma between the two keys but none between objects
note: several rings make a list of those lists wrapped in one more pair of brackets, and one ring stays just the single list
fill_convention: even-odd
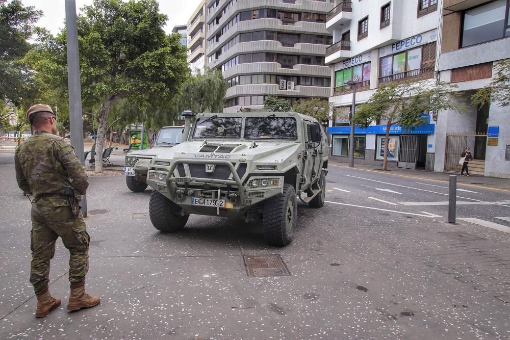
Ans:
[{"label": "pale green VAMTAC armored military truck with front bull bar", "polygon": [[183,228],[190,214],[261,219],[266,242],[294,237],[297,199],[324,204],[328,143],[314,118],[287,113],[199,114],[189,138],[150,161],[152,225]]}]

